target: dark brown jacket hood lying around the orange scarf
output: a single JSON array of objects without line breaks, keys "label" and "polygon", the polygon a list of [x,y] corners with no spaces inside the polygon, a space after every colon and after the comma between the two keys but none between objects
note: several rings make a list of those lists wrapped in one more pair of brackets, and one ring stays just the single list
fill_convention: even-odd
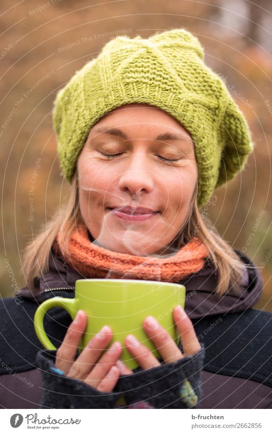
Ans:
[{"label": "dark brown jacket hood lying around the orange scarf", "polygon": [[[246,255],[239,250],[234,250],[246,264],[239,294],[236,294],[232,289],[229,289],[223,296],[215,294],[217,277],[211,265],[207,265],[202,270],[177,282],[186,287],[185,310],[191,319],[241,312],[253,307],[260,299],[263,289],[260,270]],[[34,278],[35,293],[25,286],[17,295],[42,303],[53,295],[50,291],[52,288],[63,290],[63,296],[66,296],[65,290],[75,290],[75,283],[78,279],[84,279],[84,276],[72,269],[51,249],[48,271],[43,276]]]}]

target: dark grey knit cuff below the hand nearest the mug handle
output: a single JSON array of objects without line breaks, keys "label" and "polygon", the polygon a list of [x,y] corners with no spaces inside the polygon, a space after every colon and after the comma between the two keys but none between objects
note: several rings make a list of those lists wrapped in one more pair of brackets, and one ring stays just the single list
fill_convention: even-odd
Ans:
[{"label": "dark grey knit cuff below the hand nearest the mug handle", "polygon": [[120,393],[104,393],[74,378],[57,373],[57,351],[37,353],[37,365],[43,379],[43,394],[39,408],[113,408]]}]

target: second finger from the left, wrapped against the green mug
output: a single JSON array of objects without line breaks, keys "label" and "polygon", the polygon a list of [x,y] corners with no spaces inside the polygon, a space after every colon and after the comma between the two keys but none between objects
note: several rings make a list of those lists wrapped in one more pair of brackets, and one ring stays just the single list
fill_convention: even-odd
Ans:
[{"label": "second finger from the left, wrapped against the green mug", "polygon": [[102,327],[102,329],[88,342],[77,360],[72,363],[67,377],[83,380],[94,368],[95,363],[111,341],[111,338],[111,328],[109,326]]}]

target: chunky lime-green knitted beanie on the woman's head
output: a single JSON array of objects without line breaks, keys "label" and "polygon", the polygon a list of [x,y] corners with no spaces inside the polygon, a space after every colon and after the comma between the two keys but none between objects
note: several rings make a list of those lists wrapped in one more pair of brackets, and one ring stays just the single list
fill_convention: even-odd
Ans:
[{"label": "chunky lime-green knitted beanie on the woman's head", "polygon": [[102,116],[123,104],[147,103],[190,133],[199,171],[197,203],[207,203],[216,187],[244,168],[253,144],[226,84],[203,58],[199,40],[184,29],[107,42],[54,101],[62,175],[71,182],[88,133]]}]

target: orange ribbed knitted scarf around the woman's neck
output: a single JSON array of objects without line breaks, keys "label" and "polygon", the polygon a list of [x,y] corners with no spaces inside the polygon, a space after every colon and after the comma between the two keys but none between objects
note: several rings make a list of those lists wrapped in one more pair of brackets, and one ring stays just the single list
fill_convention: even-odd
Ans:
[{"label": "orange ribbed knitted scarf around the woman's neck", "polygon": [[[58,240],[53,248],[61,257]],[[87,279],[140,279],[162,282],[177,282],[201,270],[208,250],[203,242],[195,237],[174,255],[167,258],[137,256],[116,253],[93,244],[88,237],[86,226],[80,225],[71,234],[68,252],[63,259],[73,269]]]}]

